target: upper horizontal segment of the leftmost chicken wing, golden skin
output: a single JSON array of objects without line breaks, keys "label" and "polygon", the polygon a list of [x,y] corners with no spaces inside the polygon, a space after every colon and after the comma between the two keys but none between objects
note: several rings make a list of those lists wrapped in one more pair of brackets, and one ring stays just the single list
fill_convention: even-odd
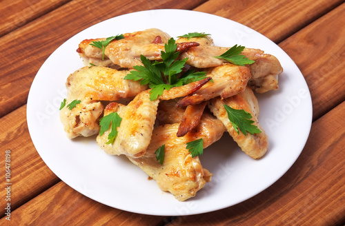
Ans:
[{"label": "upper horizontal segment of the leftmost chicken wing, golden skin", "polygon": [[128,70],[92,66],[83,67],[68,76],[66,88],[71,100],[117,101],[133,98],[148,86],[124,79]]}]

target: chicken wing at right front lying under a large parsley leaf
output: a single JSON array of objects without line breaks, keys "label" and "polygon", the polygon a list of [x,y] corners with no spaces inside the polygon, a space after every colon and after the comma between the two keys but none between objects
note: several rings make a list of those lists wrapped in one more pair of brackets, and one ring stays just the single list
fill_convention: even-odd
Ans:
[{"label": "chicken wing at right front lying under a large parsley leaf", "polygon": [[[228,119],[228,114],[224,108],[224,104],[233,107],[234,109],[242,109],[246,112],[249,112],[252,115],[253,121],[259,130],[262,132],[259,134],[250,134],[247,132],[245,136],[240,130],[239,134],[235,131],[233,125],[230,123]],[[226,130],[233,137],[234,141],[241,147],[242,151],[244,151],[248,156],[252,158],[261,158],[264,156],[268,149],[268,136],[262,129],[259,121],[257,121],[257,117],[259,116],[259,105],[257,103],[257,99],[250,88],[246,88],[244,92],[241,92],[235,96],[231,96],[227,99],[221,99],[217,97],[212,99],[208,102],[208,107],[213,114],[222,121],[226,127]]]}]

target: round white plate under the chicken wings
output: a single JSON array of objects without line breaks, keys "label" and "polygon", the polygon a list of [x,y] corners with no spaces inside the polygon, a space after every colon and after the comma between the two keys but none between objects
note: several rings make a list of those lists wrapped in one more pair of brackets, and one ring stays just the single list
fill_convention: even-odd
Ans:
[{"label": "round white plate under the chicken wings", "polygon": [[[212,34],[216,45],[239,44],[273,54],[284,68],[279,76],[279,90],[257,95],[259,121],[270,139],[266,156],[253,160],[224,134],[201,156],[203,166],[214,174],[212,182],[185,202],[161,192],[155,181],[148,181],[148,176],[126,158],[105,154],[95,137],[70,141],[59,121],[59,105],[66,98],[66,78],[83,66],[76,52],[79,42],[146,28],[159,28],[175,38],[188,32],[206,32]],[[312,105],[306,81],[295,63],[262,34],[212,14],[149,10],[93,25],[57,48],[34,78],[27,117],[37,152],[52,172],[73,189],[99,203],[129,212],[183,216],[235,205],[275,183],[304,148],[311,129]]]}]

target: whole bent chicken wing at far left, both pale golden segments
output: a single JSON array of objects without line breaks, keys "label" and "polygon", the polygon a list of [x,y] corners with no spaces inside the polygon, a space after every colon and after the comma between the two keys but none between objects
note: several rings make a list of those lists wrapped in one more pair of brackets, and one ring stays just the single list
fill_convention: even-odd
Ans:
[{"label": "whole bent chicken wing at far left, both pale golden segments", "polygon": [[103,105],[99,101],[132,99],[146,90],[139,81],[124,80],[128,71],[99,66],[84,67],[70,74],[66,81],[67,103],[79,100],[75,108],[63,107],[60,119],[69,138],[92,136],[99,132],[99,116]]}]

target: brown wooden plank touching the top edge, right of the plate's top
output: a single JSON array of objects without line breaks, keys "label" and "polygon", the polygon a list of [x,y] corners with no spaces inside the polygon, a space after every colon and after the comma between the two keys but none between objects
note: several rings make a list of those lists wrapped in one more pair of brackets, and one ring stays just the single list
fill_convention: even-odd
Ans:
[{"label": "brown wooden plank touching the top edge, right of the plate's top", "polygon": [[195,10],[232,19],[279,43],[342,2],[342,0],[210,0]]}]

